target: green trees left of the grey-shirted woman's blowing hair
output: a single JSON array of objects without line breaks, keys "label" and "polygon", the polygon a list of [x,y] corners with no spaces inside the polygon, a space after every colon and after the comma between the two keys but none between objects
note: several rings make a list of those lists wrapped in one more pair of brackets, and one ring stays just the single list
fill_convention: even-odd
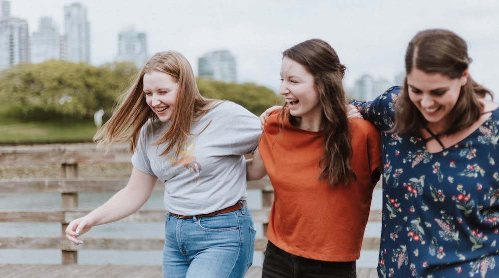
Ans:
[{"label": "green trees left of the grey-shirted woman's blowing hair", "polygon": [[132,63],[22,63],[0,73],[0,97],[4,113],[24,121],[88,118],[100,108],[110,113],[136,72]]}]

